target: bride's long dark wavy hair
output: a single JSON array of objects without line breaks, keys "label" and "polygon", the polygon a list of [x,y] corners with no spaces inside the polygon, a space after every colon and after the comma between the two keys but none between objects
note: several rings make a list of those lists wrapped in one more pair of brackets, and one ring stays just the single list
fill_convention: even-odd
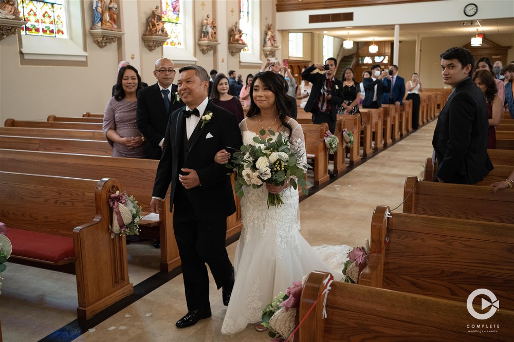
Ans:
[{"label": "bride's long dark wavy hair", "polygon": [[[282,126],[289,129],[289,137],[292,134],[292,127],[286,121],[286,117],[290,116],[291,113],[291,97],[286,94],[284,78],[271,71],[263,71],[253,75],[253,80],[250,85],[250,108],[248,109],[247,117],[253,117],[254,115],[259,115],[261,113],[261,109],[255,104],[253,101],[253,85],[255,81],[261,80],[261,83],[264,84],[273,94],[275,94],[275,106],[279,112],[279,120]],[[296,105],[296,100],[294,101]]]}]

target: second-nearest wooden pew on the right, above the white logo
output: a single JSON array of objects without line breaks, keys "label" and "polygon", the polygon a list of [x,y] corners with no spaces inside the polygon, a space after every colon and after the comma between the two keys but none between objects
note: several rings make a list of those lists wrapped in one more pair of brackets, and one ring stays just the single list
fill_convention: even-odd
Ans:
[{"label": "second-nearest wooden pew on the right, above the white logo", "polygon": [[370,254],[359,284],[463,303],[474,290],[486,288],[502,309],[514,310],[511,224],[389,210],[375,208],[371,250],[377,253]]}]

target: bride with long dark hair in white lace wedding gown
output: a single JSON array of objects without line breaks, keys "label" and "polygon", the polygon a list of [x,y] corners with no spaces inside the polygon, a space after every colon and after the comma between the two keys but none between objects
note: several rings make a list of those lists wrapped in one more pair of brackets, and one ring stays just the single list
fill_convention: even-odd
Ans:
[{"label": "bride with long dark hair in white lace wedding gown", "polygon": [[[254,75],[251,105],[239,125],[243,144],[254,144],[259,131],[271,129],[289,139],[298,164],[306,163],[302,126],[288,117],[289,101],[280,75],[265,71]],[[269,134],[266,133],[265,138]],[[230,154],[219,151],[214,160],[227,163]],[[266,204],[268,192],[280,193],[284,204]],[[241,198],[243,231],[235,252],[235,283],[223,321],[222,333],[234,334],[261,321],[262,310],[273,296],[311,271],[332,272],[300,234],[298,191],[286,182],[244,188]]]}]

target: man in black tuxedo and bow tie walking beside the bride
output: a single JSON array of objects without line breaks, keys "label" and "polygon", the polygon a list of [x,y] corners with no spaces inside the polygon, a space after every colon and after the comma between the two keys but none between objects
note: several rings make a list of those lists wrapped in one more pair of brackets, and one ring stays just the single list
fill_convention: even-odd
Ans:
[{"label": "man in black tuxedo and bow tie walking beside the bride", "polygon": [[242,141],[235,116],[207,98],[207,71],[191,65],[179,72],[178,92],[186,106],[172,113],[166,128],[150,208],[159,211],[171,182],[173,227],[188,303],[188,313],[176,326],[185,328],[211,316],[205,263],[217,288],[223,287],[223,303],[228,305],[230,299],[234,269],[225,235],[235,202],[227,168],[215,163],[214,156],[219,150],[240,147]]}]

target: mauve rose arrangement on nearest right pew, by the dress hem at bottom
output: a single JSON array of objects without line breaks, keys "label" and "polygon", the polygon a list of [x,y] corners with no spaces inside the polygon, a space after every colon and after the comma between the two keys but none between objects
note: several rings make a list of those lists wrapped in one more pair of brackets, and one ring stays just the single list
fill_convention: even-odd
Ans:
[{"label": "mauve rose arrangement on nearest right pew, by the dress hem at bottom", "polygon": [[270,329],[268,335],[272,338],[271,341],[283,341],[298,324],[297,313],[305,278],[302,281],[293,282],[286,293],[280,292],[264,308],[261,317],[262,325]]}]

